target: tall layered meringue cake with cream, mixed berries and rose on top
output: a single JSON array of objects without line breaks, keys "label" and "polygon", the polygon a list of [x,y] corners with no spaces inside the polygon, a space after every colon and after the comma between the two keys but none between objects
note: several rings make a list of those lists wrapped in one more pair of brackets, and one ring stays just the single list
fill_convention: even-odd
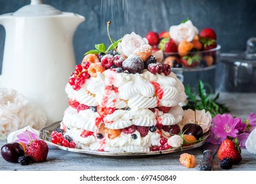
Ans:
[{"label": "tall layered meringue cake with cream, mixed berries and rose on top", "polygon": [[70,106],[57,131],[72,144],[61,145],[110,152],[170,149],[167,139],[180,133],[186,94],[170,66],[161,64],[162,51],[134,32],[108,49],[103,43],[95,48],[66,84]]}]

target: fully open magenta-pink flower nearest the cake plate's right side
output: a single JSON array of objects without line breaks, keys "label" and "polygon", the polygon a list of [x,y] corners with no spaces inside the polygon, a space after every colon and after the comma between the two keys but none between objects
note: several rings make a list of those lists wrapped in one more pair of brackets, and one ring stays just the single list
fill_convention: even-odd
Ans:
[{"label": "fully open magenta-pink flower nearest the cake plate's right side", "polygon": [[236,137],[236,124],[240,121],[240,118],[232,118],[231,114],[218,114],[213,118],[213,133],[222,140],[226,137]]}]

